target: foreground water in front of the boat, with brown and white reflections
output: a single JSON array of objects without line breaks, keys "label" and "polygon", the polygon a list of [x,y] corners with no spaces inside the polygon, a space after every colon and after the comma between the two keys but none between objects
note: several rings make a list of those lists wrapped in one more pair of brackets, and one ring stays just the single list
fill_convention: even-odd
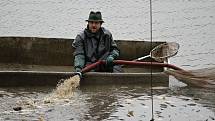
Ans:
[{"label": "foreground water in front of the boat, with brown and white reflections", "polygon": [[[53,87],[2,88],[0,120],[150,120],[150,88],[144,85],[81,86],[67,102],[40,102]],[[199,88],[154,88],[156,120],[212,121],[215,91]],[[13,111],[17,101],[30,99],[35,107]]]}]

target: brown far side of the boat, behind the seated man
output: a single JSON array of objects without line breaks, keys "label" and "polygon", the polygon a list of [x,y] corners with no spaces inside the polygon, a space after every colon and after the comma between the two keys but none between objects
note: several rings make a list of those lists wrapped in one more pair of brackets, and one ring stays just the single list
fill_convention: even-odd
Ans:
[{"label": "brown far side of the boat, behind the seated man", "polygon": [[[0,37],[0,63],[73,65],[73,39]],[[150,42],[116,40],[120,59],[133,60],[150,52]],[[153,47],[161,42],[153,42]]]}]

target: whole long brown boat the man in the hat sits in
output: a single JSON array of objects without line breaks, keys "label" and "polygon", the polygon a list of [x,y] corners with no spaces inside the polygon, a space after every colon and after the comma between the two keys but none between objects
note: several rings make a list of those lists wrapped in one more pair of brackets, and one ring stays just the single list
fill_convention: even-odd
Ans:
[{"label": "whole long brown boat the man in the hat sits in", "polygon": [[[0,86],[50,86],[73,76],[72,42],[73,39],[62,38],[0,37]],[[121,60],[133,60],[151,51],[150,41],[116,42]],[[153,41],[152,48],[161,43],[165,42]],[[153,85],[168,86],[169,76],[164,73],[164,67],[123,66],[123,70],[124,73],[88,72],[81,84],[147,85],[152,76]]]}]

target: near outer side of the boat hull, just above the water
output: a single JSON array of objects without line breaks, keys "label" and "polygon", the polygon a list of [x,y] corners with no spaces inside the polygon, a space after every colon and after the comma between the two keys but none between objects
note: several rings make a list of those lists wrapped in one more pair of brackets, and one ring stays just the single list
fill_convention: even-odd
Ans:
[{"label": "near outer side of the boat hull, just above the water", "polygon": [[[2,71],[0,86],[56,86],[61,80],[74,76],[74,72],[45,71]],[[152,73],[154,86],[168,86],[169,76],[162,73]],[[81,85],[107,84],[151,84],[151,73],[101,73],[89,72],[83,75]]]}]

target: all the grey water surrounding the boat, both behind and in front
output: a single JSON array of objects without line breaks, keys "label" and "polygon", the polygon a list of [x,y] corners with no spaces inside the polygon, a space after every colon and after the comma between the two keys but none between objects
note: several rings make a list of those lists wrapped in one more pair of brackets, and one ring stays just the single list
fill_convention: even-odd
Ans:
[{"label": "all the grey water surrounding the boat, both behind and in front", "polygon": [[[152,1],[153,40],[180,44],[178,54],[170,62],[186,70],[205,72],[214,68],[215,1]],[[1,0],[0,36],[75,38],[86,27],[90,10],[102,11],[104,26],[115,39],[150,38],[149,0]],[[170,83],[170,87],[154,90],[156,120],[215,120],[213,89],[184,87],[185,84],[174,78]],[[75,90],[68,101],[53,105],[41,103],[54,88],[0,88],[0,120],[151,118],[150,89],[144,85],[85,86]],[[13,107],[26,100],[22,111],[13,111]]]}]

